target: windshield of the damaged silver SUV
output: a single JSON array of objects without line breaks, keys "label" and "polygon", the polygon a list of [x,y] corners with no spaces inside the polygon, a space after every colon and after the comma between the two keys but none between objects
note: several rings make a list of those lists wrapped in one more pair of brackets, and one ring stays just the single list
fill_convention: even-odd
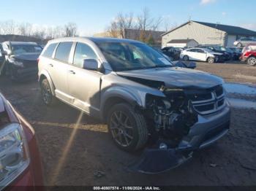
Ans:
[{"label": "windshield of the damaged silver SUV", "polygon": [[172,66],[162,53],[142,43],[97,42],[114,71]]}]

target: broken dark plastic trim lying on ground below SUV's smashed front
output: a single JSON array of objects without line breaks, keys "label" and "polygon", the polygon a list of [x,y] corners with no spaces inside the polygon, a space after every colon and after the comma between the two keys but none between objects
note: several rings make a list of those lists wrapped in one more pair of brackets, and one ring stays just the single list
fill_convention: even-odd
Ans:
[{"label": "broken dark plastic trim lying on ground below SUV's smashed front", "polygon": [[192,158],[193,152],[181,152],[176,149],[145,149],[140,159],[129,165],[132,172],[160,174],[177,168]]}]

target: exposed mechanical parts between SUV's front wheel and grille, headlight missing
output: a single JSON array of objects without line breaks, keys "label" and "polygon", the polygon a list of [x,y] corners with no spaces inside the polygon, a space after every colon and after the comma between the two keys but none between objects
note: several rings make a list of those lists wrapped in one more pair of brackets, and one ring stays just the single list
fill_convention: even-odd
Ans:
[{"label": "exposed mechanical parts between SUV's front wheel and grille, headlight missing", "polygon": [[[165,139],[169,147],[177,147],[190,128],[198,121],[192,101],[182,89],[159,88],[166,98],[147,95],[146,117],[154,120],[154,139]],[[167,140],[166,140],[167,139]]]}]

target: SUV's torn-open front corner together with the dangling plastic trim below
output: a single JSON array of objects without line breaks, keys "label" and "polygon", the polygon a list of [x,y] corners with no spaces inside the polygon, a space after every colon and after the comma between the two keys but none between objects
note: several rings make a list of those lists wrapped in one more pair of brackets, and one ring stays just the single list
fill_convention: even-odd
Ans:
[{"label": "SUV's torn-open front corner together with the dangling plastic trim below", "polygon": [[143,152],[136,163],[129,166],[131,171],[144,174],[157,174],[176,168],[192,157],[192,147],[184,137],[198,121],[192,101],[184,90],[158,88],[165,98],[146,95],[146,109],[143,113],[148,122],[151,147]]}]

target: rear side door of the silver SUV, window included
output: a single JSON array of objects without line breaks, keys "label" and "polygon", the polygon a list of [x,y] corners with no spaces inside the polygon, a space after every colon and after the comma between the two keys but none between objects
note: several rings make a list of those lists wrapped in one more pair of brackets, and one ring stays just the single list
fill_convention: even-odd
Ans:
[{"label": "rear side door of the silver SUV, window included", "polygon": [[56,48],[54,59],[48,63],[48,71],[56,87],[56,96],[64,101],[70,101],[67,86],[67,66],[70,60],[70,51],[73,42],[60,42]]}]

